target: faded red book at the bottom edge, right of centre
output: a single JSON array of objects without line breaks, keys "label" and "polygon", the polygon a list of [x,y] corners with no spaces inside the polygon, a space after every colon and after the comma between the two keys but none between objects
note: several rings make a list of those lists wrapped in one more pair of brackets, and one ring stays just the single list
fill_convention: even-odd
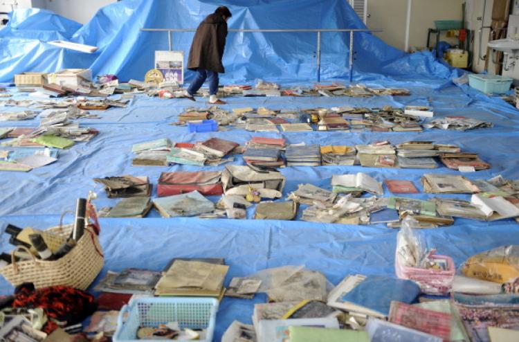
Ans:
[{"label": "faded red book at the bottom edge, right of centre", "polygon": [[450,341],[450,314],[422,309],[406,303],[391,302],[389,321]]}]

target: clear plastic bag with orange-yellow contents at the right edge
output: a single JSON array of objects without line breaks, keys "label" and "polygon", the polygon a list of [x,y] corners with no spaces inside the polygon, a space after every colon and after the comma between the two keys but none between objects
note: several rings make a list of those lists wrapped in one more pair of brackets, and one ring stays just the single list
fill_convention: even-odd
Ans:
[{"label": "clear plastic bag with orange-yellow contents at the right edge", "polygon": [[471,278],[491,282],[513,282],[519,278],[519,245],[500,246],[473,255],[460,266],[462,273]]}]

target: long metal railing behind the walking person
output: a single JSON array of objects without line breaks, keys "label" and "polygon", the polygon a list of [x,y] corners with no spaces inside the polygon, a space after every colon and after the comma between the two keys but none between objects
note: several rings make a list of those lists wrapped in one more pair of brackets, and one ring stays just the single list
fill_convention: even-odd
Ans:
[{"label": "long metal railing behind the walking person", "polygon": [[[172,33],[174,32],[194,32],[196,29],[194,28],[141,28],[141,31],[147,32],[167,32],[167,41],[170,45],[170,51],[173,50],[173,37]],[[321,33],[323,32],[349,32],[349,82],[352,83],[353,80],[353,64],[354,64],[354,51],[353,51],[353,43],[354,43],[354,33],[356,32],[382,32],[382,30],[368,30],[363,28],[300,28],[300,29],[235,29],[230,28],[229,32],[262,32],[262,33],[287,33],[287,32],[296,32],[296,33],[317,33],[317,49],[316,49],[316,62],[317,62],[317,82],[321,80]]]}]

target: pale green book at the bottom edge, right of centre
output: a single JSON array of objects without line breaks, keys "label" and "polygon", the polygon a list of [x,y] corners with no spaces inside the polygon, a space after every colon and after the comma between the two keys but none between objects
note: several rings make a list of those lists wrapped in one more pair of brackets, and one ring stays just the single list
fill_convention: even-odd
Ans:
[{"label": "pale green book at the bottom edge, right of centre", "polygon": [[290,342],[369,342],[367,332],[326,329],[322,327],[289,327]]}]

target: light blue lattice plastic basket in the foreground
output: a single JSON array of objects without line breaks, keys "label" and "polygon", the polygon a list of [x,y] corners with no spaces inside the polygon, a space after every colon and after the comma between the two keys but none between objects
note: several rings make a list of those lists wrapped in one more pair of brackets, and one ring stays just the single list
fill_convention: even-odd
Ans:
[{"label": "light blue lattice plastic basket in the foreground", "polygon": [[[161,324],[178,322],[181,328],[205,329],[206,339],[197,341],[211,342],[215,333],[218,305],[216,298],[206,297],[136,298],[122,307],[113,341],[156,342],[137,339],[139,327],[158,327]],[[123,319],[125,314],[128,316]]]}]

